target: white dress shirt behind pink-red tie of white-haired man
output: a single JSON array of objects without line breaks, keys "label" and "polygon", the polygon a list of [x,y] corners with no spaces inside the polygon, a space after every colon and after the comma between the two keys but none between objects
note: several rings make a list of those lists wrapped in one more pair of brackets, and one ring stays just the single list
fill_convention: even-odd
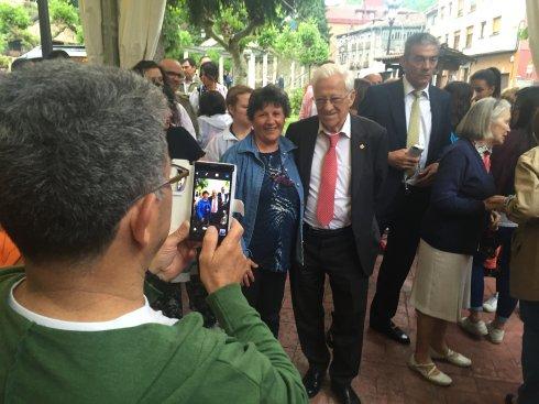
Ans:
[{"label": "white dress shirt behind pink-red tie of white-haired man", "polygon": [[352,222],[352,148],[350,113],[340,130],[340,139],[337,142],[337,184],[336,184],[336,205],[333,219],[328,226],[322,226],[317,219],[318,192],[322,176],[323,157],[329,150],[328,131],[320,124],[318,129],[312,165],[310,167],[309,195],[305,208],[304,220],[307,225],[317,229],[341,229]]}]

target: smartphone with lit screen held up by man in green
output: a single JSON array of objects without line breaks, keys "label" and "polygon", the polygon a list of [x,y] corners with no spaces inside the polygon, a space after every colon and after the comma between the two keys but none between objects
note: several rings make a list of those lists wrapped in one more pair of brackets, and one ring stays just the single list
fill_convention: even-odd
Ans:
[{"label": "smartphone with lit screen held up by man in green", "polygon": [[217,228],[219,241],[227,237],[232,218],[235,174],[233,164],[195,162],[189,239],[202,240],[210,226]]}]

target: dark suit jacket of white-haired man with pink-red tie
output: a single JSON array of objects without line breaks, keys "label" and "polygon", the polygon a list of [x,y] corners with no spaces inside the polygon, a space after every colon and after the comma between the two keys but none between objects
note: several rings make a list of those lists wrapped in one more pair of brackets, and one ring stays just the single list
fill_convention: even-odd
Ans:
[{"label": "dark suit jacket of white-haired man with pink-red tie", "polygon": [[[286,137],[296,145],[296,165],[309,195],[310,171],[318,135],[318,116],[292,123]],[[386,131],[376,122],[351,117],[352,229],[362,271],[371,275],[378,253],[380,231],[374,219],[375,199],[387,173]]]}]

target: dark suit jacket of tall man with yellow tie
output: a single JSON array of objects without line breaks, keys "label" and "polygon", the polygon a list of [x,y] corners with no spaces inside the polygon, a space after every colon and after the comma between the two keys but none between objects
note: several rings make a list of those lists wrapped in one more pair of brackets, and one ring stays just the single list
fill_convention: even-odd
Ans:
[{"label": "dark suit jacket of tall man with yellow tie", "polygon": [[[389,151],[405,149],[407,138],[403,79],[367,88],[366,96],[358,107],[358,113],[372,119],[387,130]],[[450,144],[451,98],[448,92],[429,86],[432,129],[430,133],[427,165],[437,162],[443,149]],[[381,222],[391,218],[396,209],[396,196],[403,186],[403,171],[389,167],[382,189],[376,214]]]}]

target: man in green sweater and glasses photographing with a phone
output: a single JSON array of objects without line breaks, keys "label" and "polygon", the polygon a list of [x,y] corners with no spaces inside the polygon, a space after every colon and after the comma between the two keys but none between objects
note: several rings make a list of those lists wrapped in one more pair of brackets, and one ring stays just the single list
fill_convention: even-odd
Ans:
[{"label": "man in green sweater and glasses photographing with a phone", "polygon": [[[0,402],[304,403],[296,369],[241,294],[234,223],[210,228],[200,276],[226,332],[153,310],[150,269],[194,256],[169,230],[166,101],[116,68],[44,62],[0,79]],[[175,178],[177,179],[177,178]]]}]

